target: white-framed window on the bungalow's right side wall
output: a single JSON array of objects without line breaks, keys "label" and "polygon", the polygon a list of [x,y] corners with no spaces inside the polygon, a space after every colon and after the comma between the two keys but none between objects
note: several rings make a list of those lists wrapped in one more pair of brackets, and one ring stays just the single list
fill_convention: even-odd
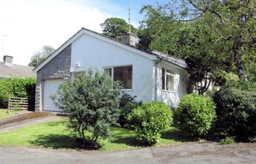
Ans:
[{"label": "white-framed window on the bungalow's right side wall", "polygon": [[175,91],[174,71],[162,69],[162,90]]}]

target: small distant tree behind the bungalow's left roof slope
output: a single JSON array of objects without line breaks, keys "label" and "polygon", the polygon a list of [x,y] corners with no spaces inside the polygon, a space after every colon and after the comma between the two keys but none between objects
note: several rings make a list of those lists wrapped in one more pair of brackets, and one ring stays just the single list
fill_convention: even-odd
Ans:
[{"label": "small distant tree behind the bungalow's left roof slope", "polygon": [[41,50],[35,52],[34,55],[32,55],[29,66],[37,67],[48,57],[48,55],[52,54],[54,51],[55,49],[53,47],[45,45],[41,48]]}]

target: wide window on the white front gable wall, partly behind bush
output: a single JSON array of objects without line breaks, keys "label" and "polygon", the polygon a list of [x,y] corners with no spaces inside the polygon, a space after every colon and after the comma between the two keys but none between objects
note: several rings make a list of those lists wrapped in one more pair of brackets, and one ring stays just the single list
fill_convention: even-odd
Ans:
[{"label": "wide window on the white front gable wall, partly behind bush", "polygon": [[132,66],[106,68],[105,73],[114,81],[120,81],[124,89],[132,89]]}]

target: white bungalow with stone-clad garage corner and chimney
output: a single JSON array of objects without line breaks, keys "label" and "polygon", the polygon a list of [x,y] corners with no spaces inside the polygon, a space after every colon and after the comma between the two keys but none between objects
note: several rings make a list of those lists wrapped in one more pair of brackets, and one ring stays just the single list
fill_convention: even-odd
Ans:
[{"label": "white bungalow with stone-clad garage corner and chimney", "polygon": [[127,33],[117,42],[81,28],[53,54],[39,64],[37,73],[37,111],[60,112],[50,95],[65,79],[89,68],[105,71],[123,84],[123,91],[136,95],[138,101],[164,101],[176,106],[187,93],[186,63],[159,52],[146,52],[135,47],[135,36]]}]

